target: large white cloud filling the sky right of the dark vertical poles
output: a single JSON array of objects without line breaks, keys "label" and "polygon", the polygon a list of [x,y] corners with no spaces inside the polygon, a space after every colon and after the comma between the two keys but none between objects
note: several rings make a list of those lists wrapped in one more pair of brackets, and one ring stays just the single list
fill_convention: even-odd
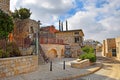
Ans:
[{"label": "large white cloud filling the sky right of the dark vertical poles", "polygon": [[[78,11],[68,18],[70,29],[83,29],[85,38],[102,41],[105,38],[120,35],[120,0],[109,0],[101,8],[96,8],[96,0],[87,0],[84,3],[86,11]],[[101,15],[100,15],[101,14]],[[96,17],[103,17],[96,20]]]}]

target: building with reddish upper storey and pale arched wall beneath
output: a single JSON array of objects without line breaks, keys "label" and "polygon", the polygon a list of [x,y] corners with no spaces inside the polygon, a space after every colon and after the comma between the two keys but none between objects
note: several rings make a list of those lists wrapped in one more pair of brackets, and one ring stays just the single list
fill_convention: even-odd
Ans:
[{"label": "building with reddish upper storey and pale arched wall beneath", "polygon": [[41,54],[45,54],[49,59],[64,57],[64,43],[62,39],[56,38],[56,32],[58,30],[53,25],[41,27],[39,31]]}]

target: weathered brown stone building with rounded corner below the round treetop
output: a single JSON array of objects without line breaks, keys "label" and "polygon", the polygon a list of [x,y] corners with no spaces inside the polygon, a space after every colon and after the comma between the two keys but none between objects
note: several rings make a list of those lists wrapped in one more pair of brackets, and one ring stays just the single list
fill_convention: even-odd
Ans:
[{"label": "weathered brown stone building with rounded corner below the round treetop", "polygon": [[[15,42],[19,44],[20,47],[25,47],[25,39],[29,38],[33,41],[34,35],[37,32],[39,26],[38,22],[31,19],[16,19],[14,20],[14,39]],[[28,40],[27,40],[28,41]]]}]

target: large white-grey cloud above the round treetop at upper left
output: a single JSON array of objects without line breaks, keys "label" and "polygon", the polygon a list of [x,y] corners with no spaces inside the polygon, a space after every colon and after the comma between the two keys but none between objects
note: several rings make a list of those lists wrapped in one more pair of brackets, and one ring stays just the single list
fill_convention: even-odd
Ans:
[{"label": "large white-grey cloud above the round treetop at upper left", "polygon": [[[14,0],[11,0],[11,3],[13,2]],[[30,8],[32,19],[41,20],[43,24],[52,24],[73,6],[70,0],[16,0],[11,5],[11,10],[19,7]]]}]

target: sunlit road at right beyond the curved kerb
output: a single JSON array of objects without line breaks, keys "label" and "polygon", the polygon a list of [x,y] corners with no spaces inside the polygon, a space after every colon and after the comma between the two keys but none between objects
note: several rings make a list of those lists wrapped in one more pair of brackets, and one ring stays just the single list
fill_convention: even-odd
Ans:
[{"label": "sunlit road at right beyond the curved kerb", "polygon": [[98,61],[104,64],[98,72],[75,80],[120,80],[120,61],[98,56]]}]

